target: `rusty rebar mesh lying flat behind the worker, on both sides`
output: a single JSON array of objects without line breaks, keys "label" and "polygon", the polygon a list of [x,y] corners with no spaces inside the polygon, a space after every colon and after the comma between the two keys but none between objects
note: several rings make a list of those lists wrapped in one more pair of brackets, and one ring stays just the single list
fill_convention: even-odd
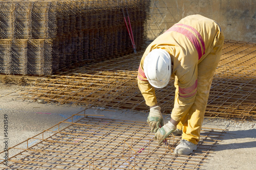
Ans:
[{"label": "rusty rebar mesh lying flat behind the worker, on both sides", "polygon": [[[29,88],[23,89],[23,98],[148,111],[136,79],[142,54],[38,78]],[[255,120],[255,60],[255,43],[225,41],[205,116]],[[173,84],[170,80],[165,88],[156,89],[158,104],[166,114],[172,111],[174,104]]]}]

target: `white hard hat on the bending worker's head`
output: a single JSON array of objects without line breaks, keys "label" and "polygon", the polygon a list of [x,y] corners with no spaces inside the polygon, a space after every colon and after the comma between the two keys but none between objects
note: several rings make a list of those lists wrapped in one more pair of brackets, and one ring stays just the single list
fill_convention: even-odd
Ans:
[{"label": "white hard hat on the bending worker's head", "polygon": [[144,59],[145,76],[156,88],[165,87],[172,75],[172,60],[169,53],[162,49],[154,49]]}]

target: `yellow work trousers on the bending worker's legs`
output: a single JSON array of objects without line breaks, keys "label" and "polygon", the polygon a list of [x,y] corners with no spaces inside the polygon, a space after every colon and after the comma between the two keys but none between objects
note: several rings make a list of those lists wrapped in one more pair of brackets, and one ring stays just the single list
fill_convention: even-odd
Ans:
[{"label": "yellow work trousers on the bending worker's legs", "polygon": [[[212,78],[214,77],[222,53],[224,36],[221,32],[219,34],[218,42],[212,48],[212,51],[198,64],[198,83],[195,102],[189,109],[188,114],[182,117],[180,123],[177,125],[177,128],[183,131],[182,139],[194,144],[197,144],[200,140],[200,130],[203,124]],[[177,89],[175,100],[177,100],[179,95],[177,81],[175,80]]]}]

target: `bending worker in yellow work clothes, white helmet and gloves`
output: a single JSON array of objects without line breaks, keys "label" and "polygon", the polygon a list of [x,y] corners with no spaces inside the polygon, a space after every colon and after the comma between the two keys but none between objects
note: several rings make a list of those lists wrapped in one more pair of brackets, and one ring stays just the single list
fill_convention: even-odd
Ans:
[{"label": "bending worker in yellow work clothes, white helmet and gloves", "polygon": [[[189,155],[197,149],[223,43],[224,35],[216,21],[190,15],[157,37],[143,54],[137,79],[150,106],[147,123],[159,144],[171,133],[182,134],[175,154]],[[155,88],[165,87],[171,76],[175,78],[175,102],[171,118],[164,125]]]}]

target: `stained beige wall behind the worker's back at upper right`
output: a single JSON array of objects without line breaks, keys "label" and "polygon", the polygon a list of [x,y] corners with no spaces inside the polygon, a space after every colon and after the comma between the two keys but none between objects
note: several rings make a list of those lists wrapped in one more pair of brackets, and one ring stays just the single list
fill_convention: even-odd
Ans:
[{"label": "stained beige wall behind the worker's back at upper right", "polygon": [[[185,16],[201,14],[220,23],[225,39],[256,43],[256,0],[151,0],[151,3],[151,26],[157,24],[155,32],[168,29]],[[154,15],[158,15],[157,21]]]}]

